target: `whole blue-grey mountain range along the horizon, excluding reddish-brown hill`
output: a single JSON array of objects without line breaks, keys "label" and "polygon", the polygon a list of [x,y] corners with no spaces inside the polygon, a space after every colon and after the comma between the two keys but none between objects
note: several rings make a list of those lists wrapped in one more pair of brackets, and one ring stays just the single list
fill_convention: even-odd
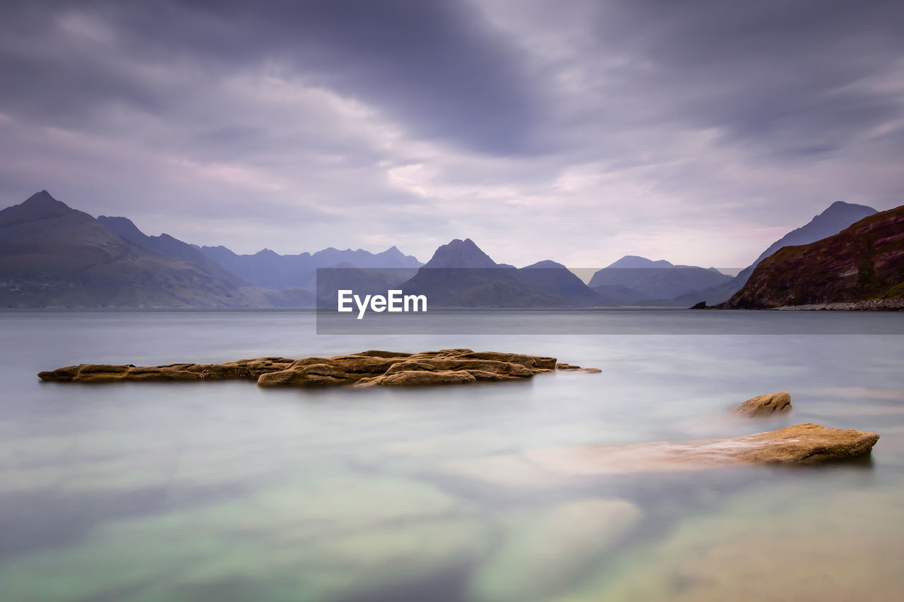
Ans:
[{"label": "whole blue-grey mountain range along the horizon, excluding reddish-brown hill", "polygon": [[625,256],[585,285],[552,260],[525,268],[496,263],[470,239],[442,245],[427,264],[396,247],[238,255],[167,234],[147,236],[125,217],[95,219],[42,191],[0,211],[0,306],[306,307],[317,298],[334,300],[345,287],[403,287],[427,294],[435,307],[688,306],[727,299],[778,249],[823,239],[874,213],[835,202],[738,277]]}]

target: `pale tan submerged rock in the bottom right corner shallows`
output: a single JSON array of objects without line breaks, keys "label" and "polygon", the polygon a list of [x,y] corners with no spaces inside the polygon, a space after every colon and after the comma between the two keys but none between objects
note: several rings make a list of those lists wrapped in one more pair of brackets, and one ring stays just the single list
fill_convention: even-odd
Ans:
[{"label": "pale tan submerged rock in the bottom right corner shallows", "polygon": [[642,544],[643,562],[598,573],[555,599],[898,602],[900,494],[802,481],[731,495]]}]

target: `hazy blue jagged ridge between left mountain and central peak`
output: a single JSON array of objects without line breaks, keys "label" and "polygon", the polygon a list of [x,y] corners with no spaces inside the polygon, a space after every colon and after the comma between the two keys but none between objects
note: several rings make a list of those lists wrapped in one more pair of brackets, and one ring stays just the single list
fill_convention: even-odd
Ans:
[{"label": "hazy blue jagged ridge between left mountain and central peak", "polygon": [[224,268],[265,288],[315,287],[317,268],[351,264],[357,268],[419,268],[423,264],[396,247],[381,253],[358,249],[324,249],[313,255],[279,255],[263,249],[254,255],[237,255],[225,247],[198,247],[204,255]]}]

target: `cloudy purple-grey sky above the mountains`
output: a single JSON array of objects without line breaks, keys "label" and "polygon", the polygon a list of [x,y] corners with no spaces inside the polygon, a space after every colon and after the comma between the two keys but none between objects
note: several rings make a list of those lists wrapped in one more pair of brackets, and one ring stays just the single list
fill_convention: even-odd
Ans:
[{"label": "cloudy purple-grey sky above the mountains", "polygon": [[894,0],[5,0],[0,81],[0,206],[240,253],[743,267],[904,204]]}]

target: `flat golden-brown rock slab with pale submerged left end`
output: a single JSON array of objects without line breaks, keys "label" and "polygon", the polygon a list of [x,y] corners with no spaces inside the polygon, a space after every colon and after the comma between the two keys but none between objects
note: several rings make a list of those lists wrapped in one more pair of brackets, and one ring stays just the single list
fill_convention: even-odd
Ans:
[{"label": "flat golden-brown rock slab with pale submerged left end", "polygon": [[747,435],[627,446],[536,449],[452,463],[448,470],[496,484],[546,485],[587,475],[704,470],[737,464],[813,465],[869,456],[876,433],[817,424]]}]

